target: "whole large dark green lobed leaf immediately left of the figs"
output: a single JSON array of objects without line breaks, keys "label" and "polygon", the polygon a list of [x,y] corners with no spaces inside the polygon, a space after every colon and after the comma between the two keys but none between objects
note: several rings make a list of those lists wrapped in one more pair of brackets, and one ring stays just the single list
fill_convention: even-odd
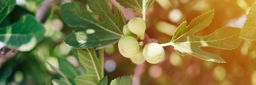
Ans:
[{"label": "whole large dark green lobed leaf immediately left of the figs", "polygon": [[103,22],[96,20],[80,2],[63,4],[61,10],[63,20],[72,27],[82,27],[66,37],[66,44],[74,48],[100,49],[117,43],[123,36],[122,27],[124,18],[117,7],[114,14],[111,12],[106,0],[88,0],[88,5],[93,13],[99,15]]}]

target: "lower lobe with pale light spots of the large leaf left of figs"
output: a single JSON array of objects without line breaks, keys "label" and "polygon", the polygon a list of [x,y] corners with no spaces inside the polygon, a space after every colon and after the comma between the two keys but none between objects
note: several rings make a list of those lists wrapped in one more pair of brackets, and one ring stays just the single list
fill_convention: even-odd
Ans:
[{"label": "lower lobe with pale light spots of the large leaf left of figs", "polygon": [[[93,27],[92,27],[93,28]],[[100,28],[81,28],[75,30],[76,33],[68,35],[64,40],[66,44],[74,48],[93,48],[100,49],[117,43],[120,36],[101,30]]]}]

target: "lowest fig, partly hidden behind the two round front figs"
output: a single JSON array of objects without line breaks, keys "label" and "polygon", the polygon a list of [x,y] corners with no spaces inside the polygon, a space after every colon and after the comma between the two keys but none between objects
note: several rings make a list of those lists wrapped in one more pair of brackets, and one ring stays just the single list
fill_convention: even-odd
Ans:
[{"label": "lowest fig, partly hidden behind the two round front figs", "polygon": [[143,47],[141,47],[135,57],[130,58],[130,60],[132,61],[132,63],[135,63],[137,65],[144,63],[145,59],[143,57]]}]

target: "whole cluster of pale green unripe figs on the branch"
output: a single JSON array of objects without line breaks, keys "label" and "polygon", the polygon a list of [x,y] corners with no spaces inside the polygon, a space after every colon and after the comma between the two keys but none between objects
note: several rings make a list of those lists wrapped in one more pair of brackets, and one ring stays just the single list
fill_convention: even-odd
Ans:
[{"label": "whole cluster of pale green unripe figs on the branch", "polygon": [[164,57],[164,48],[157,43],[144,45],[146,23],[140,17],[132,18],[128,24],[124,25],[122,37],[118,42],[118,49],[121,55],[135,64],[159,63]]}]

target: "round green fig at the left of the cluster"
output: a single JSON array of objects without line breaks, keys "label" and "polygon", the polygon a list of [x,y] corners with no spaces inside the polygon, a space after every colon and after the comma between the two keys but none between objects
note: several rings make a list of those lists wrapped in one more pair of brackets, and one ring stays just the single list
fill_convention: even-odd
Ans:
[{"label": "round green fig at the left of the cluster", "polygon": [[139,43],[134,37],[124,36],[118,42],[118,49],[124,57],[131,58],[139,52]]}]

